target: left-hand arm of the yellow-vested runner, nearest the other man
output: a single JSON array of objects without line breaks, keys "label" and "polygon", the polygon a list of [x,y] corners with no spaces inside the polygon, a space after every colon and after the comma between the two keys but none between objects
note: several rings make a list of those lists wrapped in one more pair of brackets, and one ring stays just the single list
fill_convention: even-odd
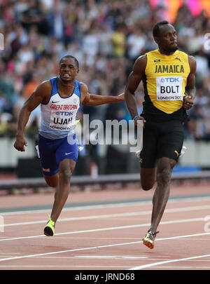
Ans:
[{"label": "left-hand arm of the yellow-vested runner, nearest the other man", "polygon": [[[142,55],[139,58],[137,58],[136,62],[134,62],[132,72],[128,77],[127,85],[125,87],[125,102],[132,119],[134,119],[135,116],[138,116],[137,103],[135,101],[134,96],[135,96],[135,91],[137,90],[139,83],[141,82],[141,79],[144,76],[146,62],[147,62],[146,55]],[[144,120],[144,118],[139,116],[137,117],[137,119],[134,119],[135,124],[137,123],[138,119]]]}]

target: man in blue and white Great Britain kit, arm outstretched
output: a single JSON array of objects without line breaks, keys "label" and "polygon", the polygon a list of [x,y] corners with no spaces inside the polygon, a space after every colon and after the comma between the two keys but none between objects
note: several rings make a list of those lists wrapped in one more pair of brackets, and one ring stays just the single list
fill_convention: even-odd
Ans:
[{"label": "man in blue and white Great Britain kit, arm outstretched", "polygon": [[43,81],[23,105],[18,118],[15,149],[25,151],[27,141],[25,126],[31,111],[41,104],[41,128],[39,129],[38,153],[45,181],[55,187],[55,200],[49,221],[44,227],[46,236],[55,234],[55,223],[69,196],[71,175],[78,158],[78,143],[74,128],[80,105],[97,106],[124,101],[124,93],[118,96],[92,95],[85,83],[76,80],[78,60],[66,55],[59,62],[59,74]]}]

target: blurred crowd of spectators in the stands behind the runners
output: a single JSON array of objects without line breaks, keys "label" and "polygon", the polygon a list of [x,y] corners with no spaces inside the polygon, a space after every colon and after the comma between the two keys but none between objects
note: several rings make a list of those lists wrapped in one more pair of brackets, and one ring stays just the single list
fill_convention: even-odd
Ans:
[{"label": "blurred crowd of spectators in the stands behind the runners", "polygon": [[[148,0],[0,0],[0,135],[15,135],[22,104],[41,81],[57,76],[66,54],[80,64],[78,80],[90,93],[123,92],[134,60],[157,48],[153,25],[165,20],[165,6],[152,9]],[[179,48],[197,60],[195,106],[189,111],[186,139],[210,140],[209,15],[196,18],[179,8],[175,22]],[[210,35],[209,35],[210,40]],[[144,93],[137,104],[141,114]],[[130,119],[125,102],[84,107],[92,119]],[[40,123],[40,109],[32,112],[28,131]]]}]

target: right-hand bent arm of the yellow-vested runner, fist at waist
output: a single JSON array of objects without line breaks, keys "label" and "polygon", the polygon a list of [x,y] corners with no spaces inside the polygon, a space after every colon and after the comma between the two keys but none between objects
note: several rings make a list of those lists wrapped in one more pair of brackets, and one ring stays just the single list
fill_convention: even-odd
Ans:
[{"label": "right-hand bent arm of the yellow-vested runner, fist at waist", "polygon": [[190,65],[190,74],[188,75],[186,85],[186,97],[184,98],[183,108],[190,109],[193,107],[193,100],[195,98],[195,73],[196,73],[196,61],[193,56],[188,56]]}]

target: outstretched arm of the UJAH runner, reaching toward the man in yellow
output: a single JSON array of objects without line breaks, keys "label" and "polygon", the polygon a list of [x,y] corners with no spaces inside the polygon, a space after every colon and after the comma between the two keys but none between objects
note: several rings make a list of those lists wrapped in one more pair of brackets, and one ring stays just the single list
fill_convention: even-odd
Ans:
[{"label": "outstretched arm of the UJAH runner, reaching toward the man in yellow", "polygon": [[123,102],[124,100],[124,93],[118,96],[90,94],[88,93],[87,86],[81,83],[81,104],[85,106],[97,106],[111,102]]}]

